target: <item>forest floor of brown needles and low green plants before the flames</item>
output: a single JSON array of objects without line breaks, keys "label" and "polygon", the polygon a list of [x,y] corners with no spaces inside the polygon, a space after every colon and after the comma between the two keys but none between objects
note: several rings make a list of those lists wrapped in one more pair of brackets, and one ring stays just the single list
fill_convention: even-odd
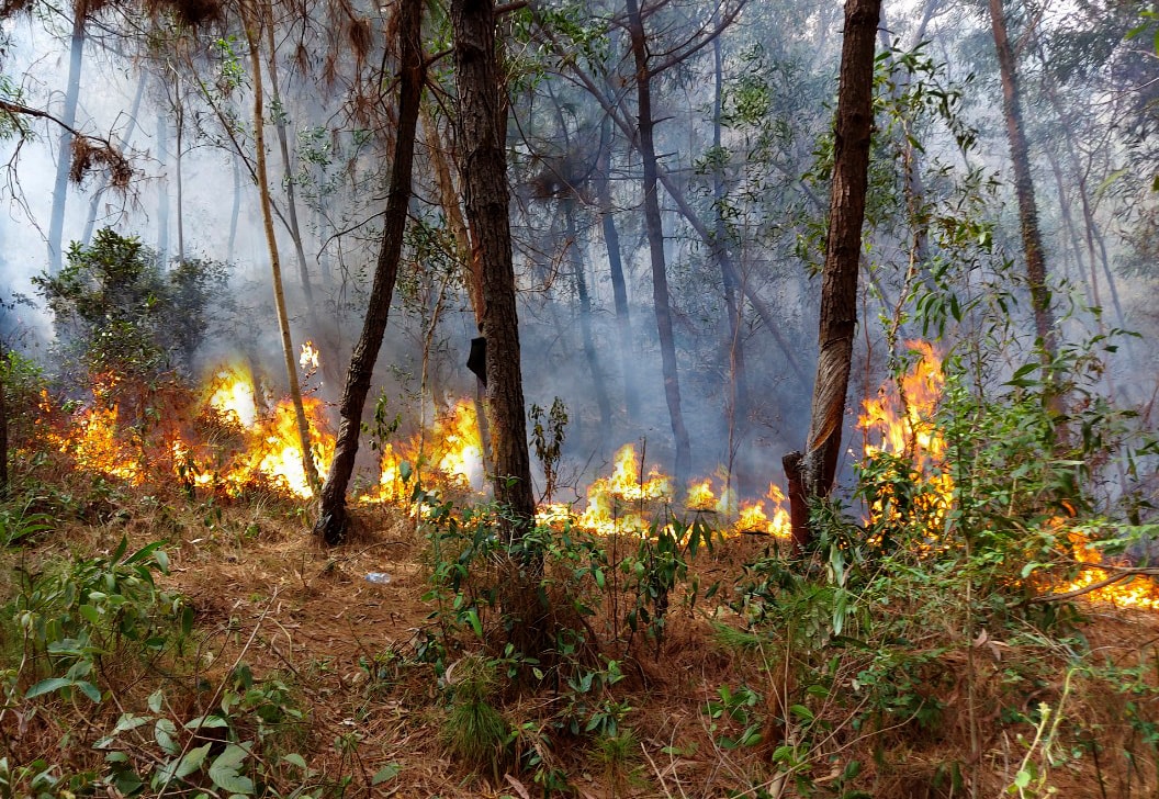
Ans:
[{"label": "forest floor of brown needles and low green plants before the flames", "polygon": [[[695,605],[673,601],[658,645],[640,635],[615,648],[624,678],[610,681],[598,691],[604,704],[592,706],[614,702],[621,729],[632,731],[627,747],[617,748],[625,736],[614,731],[553,728],[569,703],[597,692],[545,684],[490,697],[512,731],[508,760],[490,771],[473,767],[447,743],[451,670],[416,656],[437,608],[424,598],[427,538],[399,510],[369,506],[356,509],[350,540],[325,549],[309,536],[305,510],[276,497],[175,509],[123,489],[94,521],[57,524],[9,551],[12,566],[46,574],[108,554],[122,536],[129,552],[163,539],[169,569],[158,584],[185,597],[196,629],[192,652],[163,667],[100,661],[100,704],[66,693],[10,700],[0,714],[8,770],[0,776],[14,787],[0,796],[22,794],[21,764],[54,769],[58,787],[81,772],[109,782],[109,751],[146,763],[138,767],[140,796],[227,796],[223,783],[198,783],[197,775],[158,789],[165,755],[169,763],[184,756],[202,740],[196,734],[180,751],[159,736],[130,741],[124,731],[116,744],[101,739],[125,713],[147,706],[184,728],[220,712],[231,690],[240,697],[231,734],[249,747],[254,777],[236,796],[1108,799],[1152,796],[1157,785],[1159,613],[1080,602],[1065,634],[1012,623],[972,639],[949,629],[911,632],[874,644],[868,660],[833,642],[773,654],[744,637],[745,625],[726,605],[745,564],[770,545],[752,536],[722,542],[687,575],[702,586],[722,581],[719,596]],[[389,581],[373,583],[371,573]],[[19,604],[14,578],[6,589]],[[19,633],[10,625],[5,632],[8,675],[23,691],[31,677],[21,674]],[[775,633],[764,640],[777,648]],[[828,669],[826,691],[803,682],[807,666]],[[870,673],[887,675],[890,689],[859,699]],[[155,690],[165,691],[160,711],[150,705]],[[938,713],[925,716],[930,707]]]}]

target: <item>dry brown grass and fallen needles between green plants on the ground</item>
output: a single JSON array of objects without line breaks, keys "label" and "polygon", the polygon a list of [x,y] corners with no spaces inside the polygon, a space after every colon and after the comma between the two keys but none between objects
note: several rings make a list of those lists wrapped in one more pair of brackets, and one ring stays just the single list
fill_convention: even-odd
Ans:
[{"label": "dry brown grass and fallen needles between green plants on the ground", "polygon": [[[85,491],[78,489],[78,496]],[[308,725],[287,746],[314,769],[351,776],[348,796],[387,796],[382,789],[391,789],[399,797],[500,797],[519,796],[520,787],[535,794],[530,775],[493,785],[487,776],[452,762],[443,749],[445,710],[437,675],[429,666],[408,661],[416,632],[430,624],[432,606],[422,600],[425,542],[404,515],[389,508],[357,508],[356,535],[340,547],[323,549],[308,533],[308,508],[272,494],[190,503],[172,487],[118,488],[92,501],[78,500],[78,507],[81,510],[72,521],[61,520],[51,535],[9,558],[35,566],[72,553],[107,552],[123,535],[132,546],[167,539],[172,561],[167,587],[189,598],[199,630],[196,656],[178,663],[169,677],[173,688],[167,697],[175,717],[204,713],[212,692],[197,690],[197,681],[217,687],[243,661],[255,677],[277,677],[291,687]],[[673,601],[658,649],[642,639],[627,652],[610,647],[625,660],[627,678],[615,693],[630,704],[627,724],[640,742],[639,751],[624,764],[603,762],[582,735],[549,734],[545,720],[566,702],[553,691],[504,700],[504,716],[527,725],[517,746],[523,750],[538,746],[545,760],[568,773],[576,796],[593,799],[723,797],[749,786],[763,786],[765,796],[778,796],[779,787],[780,796],[797,796],[792,780],[779,782],[772,764],[779,746],[803,734],[800,724],[786,726],[782,720],[783,705],[800,700],[792,697],[800,697],[803,688],[797,684],[797,655],[778,649],[775,635],[768,639],[771,652],[760,653],[729,645],[713,629],[714,623],[742,626],[717,603],[728,600],[730,581],[742,564],[760,554],[764,543],[741,537],[699,560],[701,583],[722,580],[721,595],[694,612]],[[372,584],[365,579],[370,572],[386,572],[392,580]],[[6,588],[10,591],[13,586]],[[1077,632],[1093,653],[1087,662],[1134,668],[1140,687],[1154,687],[1159,618],[1108,608],[1088,610],[1089,620]],[[612,629],[606,617],[591,624],[600,631]],[[943,787],[935,787],[939,773],[956,764],[974,786],[972,796],[1003,796],[1034,735],[1033,726],[1013,719],[1011,710],[1029,713],[1047,703],[1052,709],[1062,704],[1066,720],[1055,753],[1063,760],[1049,773],[1057,796],[1151,796],[1157,749],[1144,740],[1145,725],[1128,722],[1132,713],[1149,722],[1159,720],[1150,693],[1080,671],[1072,675],[1064,703],[1067,670],[1076,662],[1073,645],[1035,638],[1028,630],[1025,639],[996,637],[976,644],[971,654],[969,641],[950,635],[952,626],[947,620],[946,629],[927,631],[928,640],[897,644],[938,653],[920,673],[923,690],[943,705],[935,728],[921,728],[912,719],[881,721],[875,734],[869,734],[868,721],[857,728],[853,717],[863,707],[851,685],[861,661],[857,653],[843,655],[834,698],[815,707],[830,725],[825,734],[815,734],[812,777],[819,785],[836,784],[844,764],[858,760],[862,773],[857,785],[874,797],[962,796],[946,787],[945,779]],[[768,662],[772,669],[766,668]],[[782,671],[781,663],[792,668]],[[68,707],[51,700],[13,709],[0,724],[8,756],[14,762],[56,757],[78,769],[100,770],[102,758],[90,749],[92,742],[122,709],[141,707],[161,678],[156,669],[131,663],[111,664],[104,676],[115,685],[116,703]],[[763,744],[727,750],[715,742],[721,731],[710,731],[704,709],[726,684],[749,684],[760,691]],[[356,744],[342,750],[335,746],[340,740]],[[1069,755],[1084,746],[1083,757]],[[1095,748],[1098,758],[1091,754]],[[372,787],[371,776],[388,763],[400,767],[400,776]]]}]

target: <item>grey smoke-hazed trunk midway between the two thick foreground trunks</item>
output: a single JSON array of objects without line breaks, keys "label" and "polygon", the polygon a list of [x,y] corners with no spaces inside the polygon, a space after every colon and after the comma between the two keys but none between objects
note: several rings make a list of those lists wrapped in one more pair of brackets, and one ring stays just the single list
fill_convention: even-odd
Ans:
[{"label": "grey smoke-hazed trunk midway between the two thick foreground trunks", "polygon": [[692,471],[692,443],[688,440],[688,430],[684,426],[684,412],[680,409],[680,382],[676,368],[676,337],[672,334],[668,263],[664,255],[664,224],[659,215],[656,144],[653,139],[651,72],[648,66],[648,43],[640,5],[636,0],[627,0],[627,10],[628,34],[632,38],[632,55],[636,66],[637,146],[644,173],[644,227],[648,232],[648,250],[651,256],[653,305],[656,311],[656,329],[659,336],[664,399],[668,400],[672,438],[676,443],[673,475],[677,491],[681,491]]}]

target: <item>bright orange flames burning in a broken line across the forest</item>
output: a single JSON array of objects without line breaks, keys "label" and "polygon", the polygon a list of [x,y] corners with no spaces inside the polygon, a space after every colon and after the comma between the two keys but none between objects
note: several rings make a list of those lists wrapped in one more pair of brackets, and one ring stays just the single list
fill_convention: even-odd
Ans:
[{"label": "bright orange flames burning in a broken line across the forest", "polygon": [[[866,400],[858,427],[865,436],[866,459],[887,457],[887,470],[910,470],[906,475],[920,491],[907,506],[888,494],[890,480],[881,484],[881,495],[869,508],[874,525],[917,525],[927,545],[935,542],[947,521],[954,497],[954,482],[942,470],[946,442],[934,422],[934,412],[945,385],[941,363],[934,348],[910,342],[918,356],[899,380],[887,383],[876,398]],[[301,364],[312,373],[318,350],[307,343]],[[238,495],[255,482],[278,487],[302,499],[313,496],[302,466],[297,419],[289,400],[272,401],[262,391],[249,369],[240,363],[216,370],[196,402],[202,420],[219,433],[198,441],[174,419],[162,422],[148,435],[123,423],[119,407],[112,401],[109,385],[94,388],[94,400],[66,420],[64,426],[45,423],[46,438],[70,455],[82,470],[99,472],[132,485],[143,484],[148,463],[169,463],[190,488],[221,491]],[[334,436],[326,426],[321,400],[306,397],[312,457],[325,472],[334,453]],[[57,416],[48,394],[42,395],[41,414]],[[188,427],[188,422],[187,422]],[[163,452],[153,452],[148,440],[163,442]],[[156,449],[154,446],[153,449]],[[438,415],[432,423],[403,442],[379,442],[378,481],[362,492],[362,503],[389,503],[414,513],[411,488],[484,491],[482,442],[474,404],[462,400]],[[738,501],[727,473],[693,481],[678,501],[672,479],[653,465],[633,444],[615,455],[611,471],[588,486],[581,510],[563,503],[542,503],[537,514],[541,524],[571,525],[593,535],[648,535],[655,524],[668,524],[679,506],[687,514],[707,517],[723,535],[770,535],[788,537],[790,522],[782,491],[770,484],[764,497]],[[1089,601],[1122,606],[1159,609],[1159,590],[1150,580],[1116,581],[1100,552],[1079,529],[1066,529],[1067,521],[1052,520],[1051,529],[1065,536],[1073,560],[1081,572],[1064,586],[1051,586],[1052,594],[1084,595]],[[924,549],[924,547],[923,547]]]}]

